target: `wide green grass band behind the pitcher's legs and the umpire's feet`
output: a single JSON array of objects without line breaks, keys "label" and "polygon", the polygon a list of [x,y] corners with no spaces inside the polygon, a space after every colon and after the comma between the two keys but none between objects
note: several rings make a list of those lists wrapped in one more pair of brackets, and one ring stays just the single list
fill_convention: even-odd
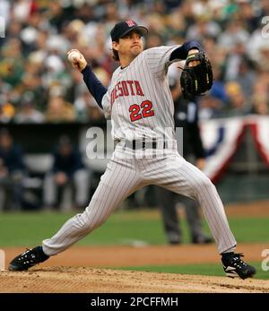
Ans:
[{"label": "wide green grass band behind the pitcher's legs and the umpire's feet", "polygon": [[[152,211],[114,212],[99,229],[82,239],[79,245],[124,245],[134,240],[151,245],[165,244],[161,215]],[[72,217],[72,213],[17,212],[0,213],[0,246],[35,246],[52,237]],[[181,220],[184,242],[189,242],[186,220]],[[207,225],[204,228],[209,232]],[[268,242],[269,218],[230,218],[230,228],[239,243]]]}]

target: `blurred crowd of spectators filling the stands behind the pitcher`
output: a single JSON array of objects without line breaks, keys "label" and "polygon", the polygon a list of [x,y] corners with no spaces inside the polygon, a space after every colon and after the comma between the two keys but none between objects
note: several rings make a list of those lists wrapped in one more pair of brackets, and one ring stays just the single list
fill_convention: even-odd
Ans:
[{"label": "blurred crowd of spectators filling the stands behind the pitcher", "polygon": [[117,67],[109,31],[127,19],[149,29],[145,48],[187,39],[202,43],[213,64],[214,83],[200,99],[201,118],[269,113],[269,31],[263,20],[269,16],[268,0],[0,0],[0,16],[5,20],[1,123],[102,118],[66,52],[81,50],[108,86]]}]

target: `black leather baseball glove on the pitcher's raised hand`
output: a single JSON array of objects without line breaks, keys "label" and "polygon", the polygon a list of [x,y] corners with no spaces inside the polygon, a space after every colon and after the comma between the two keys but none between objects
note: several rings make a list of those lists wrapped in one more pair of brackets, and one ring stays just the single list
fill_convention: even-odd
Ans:
[{"label": "black leather baseball glove on the pitcher's raised hand", "polygon": [[[200,61],[199,65],[190,67],[192,61]],[[212,65],[204,52],[187,56],[186,64],[180,77],[182,94],[185,99],[195,99],[209,91],[213,84]]]}]

